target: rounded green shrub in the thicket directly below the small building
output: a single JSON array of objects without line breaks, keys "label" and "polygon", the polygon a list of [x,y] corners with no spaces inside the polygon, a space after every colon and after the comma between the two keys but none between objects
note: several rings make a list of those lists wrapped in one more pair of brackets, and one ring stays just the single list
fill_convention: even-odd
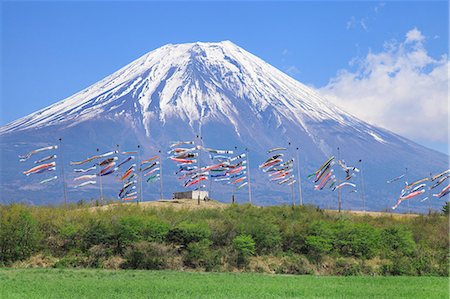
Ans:
[{"label": "rounded green shrub in the thicket directly below the small building", "polygon": [[182,222],[171,229],[167,237],[169,241],[186,247],[189,243],[199,242],[210,236],[211,230],[206,224]]}]

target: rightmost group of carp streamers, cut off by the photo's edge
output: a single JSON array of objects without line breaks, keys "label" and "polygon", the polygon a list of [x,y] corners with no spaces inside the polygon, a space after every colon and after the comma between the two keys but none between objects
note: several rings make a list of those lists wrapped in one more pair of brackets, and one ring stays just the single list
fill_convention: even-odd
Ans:
[{"label": "rightmost group of carp streamers, cut off by the photo's edge", "polygon": [[[401,174],[401,175],[387,181],[387,183],[392,184],[394,182],[400,181],[405,176],[406,176],[406,173]],[[405,186],[403,187],[403,189],[400,192],[400,196],[397,199],[397,203],[392,207],[392,209],[395,210],[405,200],[408,200],[408,199],[411,199],[414,197],[424,196],[424,193],[426,192],[426,190],[429,190],[430,192],[434,192],[432,190],[435,190],[437,187],[439,187],[449,177],[450,177],[450,169],[445,170],[445,171],[443,171],[437,175],[431,176],[429,178],[427,177],[427,178],[417,180],[413,183],[405,182]],[[427,183],[429,184],[429,186],[427,186]],[[434,193],[433,197],[443,198],[444,196],[448,195],[449,193],[450,193],[450,184],[448,184],[446,187],[441,189],[440,192]],[[420,200],[420,202],[424,202],[427,199],[428,199],[428,196],[426,196],[425,198],[422,198]]]}]

